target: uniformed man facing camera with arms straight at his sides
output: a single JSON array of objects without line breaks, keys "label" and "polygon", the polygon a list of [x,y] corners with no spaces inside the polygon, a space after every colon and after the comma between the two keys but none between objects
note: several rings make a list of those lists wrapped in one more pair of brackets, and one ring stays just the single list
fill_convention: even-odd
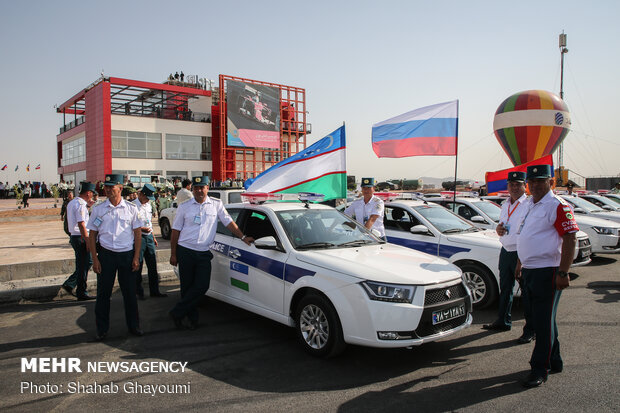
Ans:
[{"label": "uniformed man facing camera with arms straight at his sides", "polygon": [[138,319],[135,274],[140,266],[142,244],[138,208],[125,201],[121,195],[123,175],[106,175],[104,186],[108,199],[93,208],[87,226],[90,230],[93,271],[97,273],[97,341],[106,338],[110,327],[110,296],[117,273],[129,332],[136,336],[143,334]]}]

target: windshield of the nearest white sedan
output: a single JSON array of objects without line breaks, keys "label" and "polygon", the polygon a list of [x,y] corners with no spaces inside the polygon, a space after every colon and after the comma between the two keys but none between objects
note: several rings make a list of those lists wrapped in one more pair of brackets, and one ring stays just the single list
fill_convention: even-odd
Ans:
[{"label": "windshield of the nearest white sedan", "polygon": [[295,249],[324,249],[379,244],[362,225],[335,209],[276,211]]}]

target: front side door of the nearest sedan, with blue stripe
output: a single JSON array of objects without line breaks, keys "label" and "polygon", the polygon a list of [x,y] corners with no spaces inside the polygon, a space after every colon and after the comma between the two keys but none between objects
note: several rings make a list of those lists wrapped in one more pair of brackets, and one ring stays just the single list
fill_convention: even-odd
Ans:
[{"label": "front side door of the nearest sedan, with blue stripe", "polygon": [[227,294],[264,310],[284,312],[284,267],[288,253],[280,243],[280,235],[266,213],[246,209],[239,227],[249,237],[274,237],[278,249],[258,249],[239,238],[231,237],[228,249]]}]

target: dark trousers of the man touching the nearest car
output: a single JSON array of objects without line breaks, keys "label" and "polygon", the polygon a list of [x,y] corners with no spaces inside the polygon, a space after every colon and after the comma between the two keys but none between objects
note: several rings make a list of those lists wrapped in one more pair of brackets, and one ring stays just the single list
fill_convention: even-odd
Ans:
[{"label": "dark trousers of the man touching the nearest car", "polygon": [[211,251],[195,251],[177,246],[181,300],[170,311],[174,317],[187,317],[191,322],[198,322],[196,307],[209,289],[212,259]]}]

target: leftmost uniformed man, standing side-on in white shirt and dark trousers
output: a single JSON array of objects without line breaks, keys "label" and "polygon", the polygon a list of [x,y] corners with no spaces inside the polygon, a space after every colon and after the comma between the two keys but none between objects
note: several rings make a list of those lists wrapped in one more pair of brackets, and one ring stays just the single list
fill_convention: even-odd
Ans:
[{"label": "leftmost uniformed man, standing side-on in white shirt and dark trousers", "polygon": [[88,242],[88,207],[92,202],[95,184],[82,182],[80,196],[67,204],[67,228],[71,233],[69,243],[75,253],[75,271],[62,284],[62,288],[69,294],[73,294],[73,288],[77,286],[75,295],[79,301],[93,300],[86,293],[86,280],[88,270],[93,262],[90,258],[90,246]]}]

